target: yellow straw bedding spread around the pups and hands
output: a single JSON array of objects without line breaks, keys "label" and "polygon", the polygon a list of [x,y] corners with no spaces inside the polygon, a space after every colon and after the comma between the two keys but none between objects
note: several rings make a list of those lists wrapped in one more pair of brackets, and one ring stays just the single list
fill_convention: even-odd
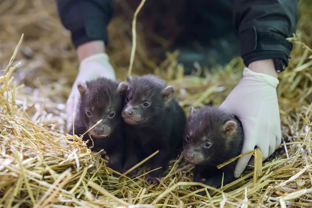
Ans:
[{"label": "yellow straw bedding spread around the pups and hands", "polygon": [[[105,158],[91,152],[77,136],[63,145],[61,140],[73,138],[64,131],[64,102],[78,66],[69,33],[61,27],[53,1],[0,2],[0,207],[311,207],[309,4],[300,2],[298,31],[290,40],[294,43],[290,65],[279,75],[283,151],[263,163],[262,169],[258,167],[256,178],[251,168],[231,184],[198,196],[198,191],[209,187],[195,189],[199,184],[192,182],[193,166],[180,158],[172,161],[155,186],[144,182],[146,170],[136,178],[112,177]],[[110,61],[117,77],[124,80],[131,23],[116,15],[109,30]],[[152,72],[175,85],[187,114],[190,105],[221,104],[241,78],[241,58],[210,70],[197,67],[193,75],[183,76],[183,66],[175,59],[178,52],[167,54],[160,63],[149,57],[139,23],[137,38],[133,73]],[[200,70],[206,77],[197,76]]]}]

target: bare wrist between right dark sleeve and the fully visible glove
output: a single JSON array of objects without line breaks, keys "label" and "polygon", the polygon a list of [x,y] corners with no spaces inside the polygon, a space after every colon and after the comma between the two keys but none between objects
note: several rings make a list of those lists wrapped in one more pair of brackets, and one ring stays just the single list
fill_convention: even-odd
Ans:
[{"label": "bare wrist between right dark sleeve and the fully visible glove", "polygon": [[256,73],[263,73],[277,78],[277,72],[275,70],[273,59],[257,60],[251,62],[248,65],[248,69]]}]

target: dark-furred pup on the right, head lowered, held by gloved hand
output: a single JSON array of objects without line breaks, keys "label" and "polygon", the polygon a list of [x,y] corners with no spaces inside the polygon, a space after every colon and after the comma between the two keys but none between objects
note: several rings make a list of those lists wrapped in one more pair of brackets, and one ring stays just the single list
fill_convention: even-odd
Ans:
[{"label": "dark-furred pup on the right, head lowered, held by gloved hand", "polygon": [[[183,141],[184,159],[195,164],[194,181],[220,188],[235,180],[236,161],[217,165],[241,154],[243,128],[239,119],[217,107],[191,108]],[[206,192],[200,194],[205,195]]]}]

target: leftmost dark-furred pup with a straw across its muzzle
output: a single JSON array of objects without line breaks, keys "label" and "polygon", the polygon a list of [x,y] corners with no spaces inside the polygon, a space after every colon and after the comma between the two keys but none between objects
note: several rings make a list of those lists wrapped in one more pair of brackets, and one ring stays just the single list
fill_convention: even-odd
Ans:
[{"label": "leftmost dark-furred pup with a straw across its muzzle", "polygon": [[[75,134],[80,136],[89,130],[95,123],[102,122],[92,128],[88,134],[94,141],[92,151],[99,152],[104,149],[109,156],[108,167],[122,172],[124,161],[124,121],[121,118],[124,92],[127,85],[107,78],[97,78],[85,84],[78,84],[80,102],[75,119]],[[72,130],[69,134],[72,135]],[[89,135],[83,140],[90,140]],[[88,142],[88,147],[92,142]]]}]

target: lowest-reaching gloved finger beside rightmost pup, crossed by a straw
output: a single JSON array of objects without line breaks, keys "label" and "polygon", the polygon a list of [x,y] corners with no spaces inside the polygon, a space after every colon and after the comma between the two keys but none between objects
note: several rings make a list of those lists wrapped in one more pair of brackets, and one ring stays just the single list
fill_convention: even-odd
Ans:
[{"label": "lowest-reaching gloved finger beside rightmost pup, crossed by a straw", "polygon": [[[255,143],[253,137],[252,129],[249,130],[247,127],[244,129],[244,144],[243,148],[241,149],[241,153],[249,152],[254,149]],[[234,170],[234,177],[238,178],[241,173],[245,170],[246,165],[248,164],[248,161],[250,159],[252,154],[245,155],[243,157],[238,158],[236,167]]]}]

